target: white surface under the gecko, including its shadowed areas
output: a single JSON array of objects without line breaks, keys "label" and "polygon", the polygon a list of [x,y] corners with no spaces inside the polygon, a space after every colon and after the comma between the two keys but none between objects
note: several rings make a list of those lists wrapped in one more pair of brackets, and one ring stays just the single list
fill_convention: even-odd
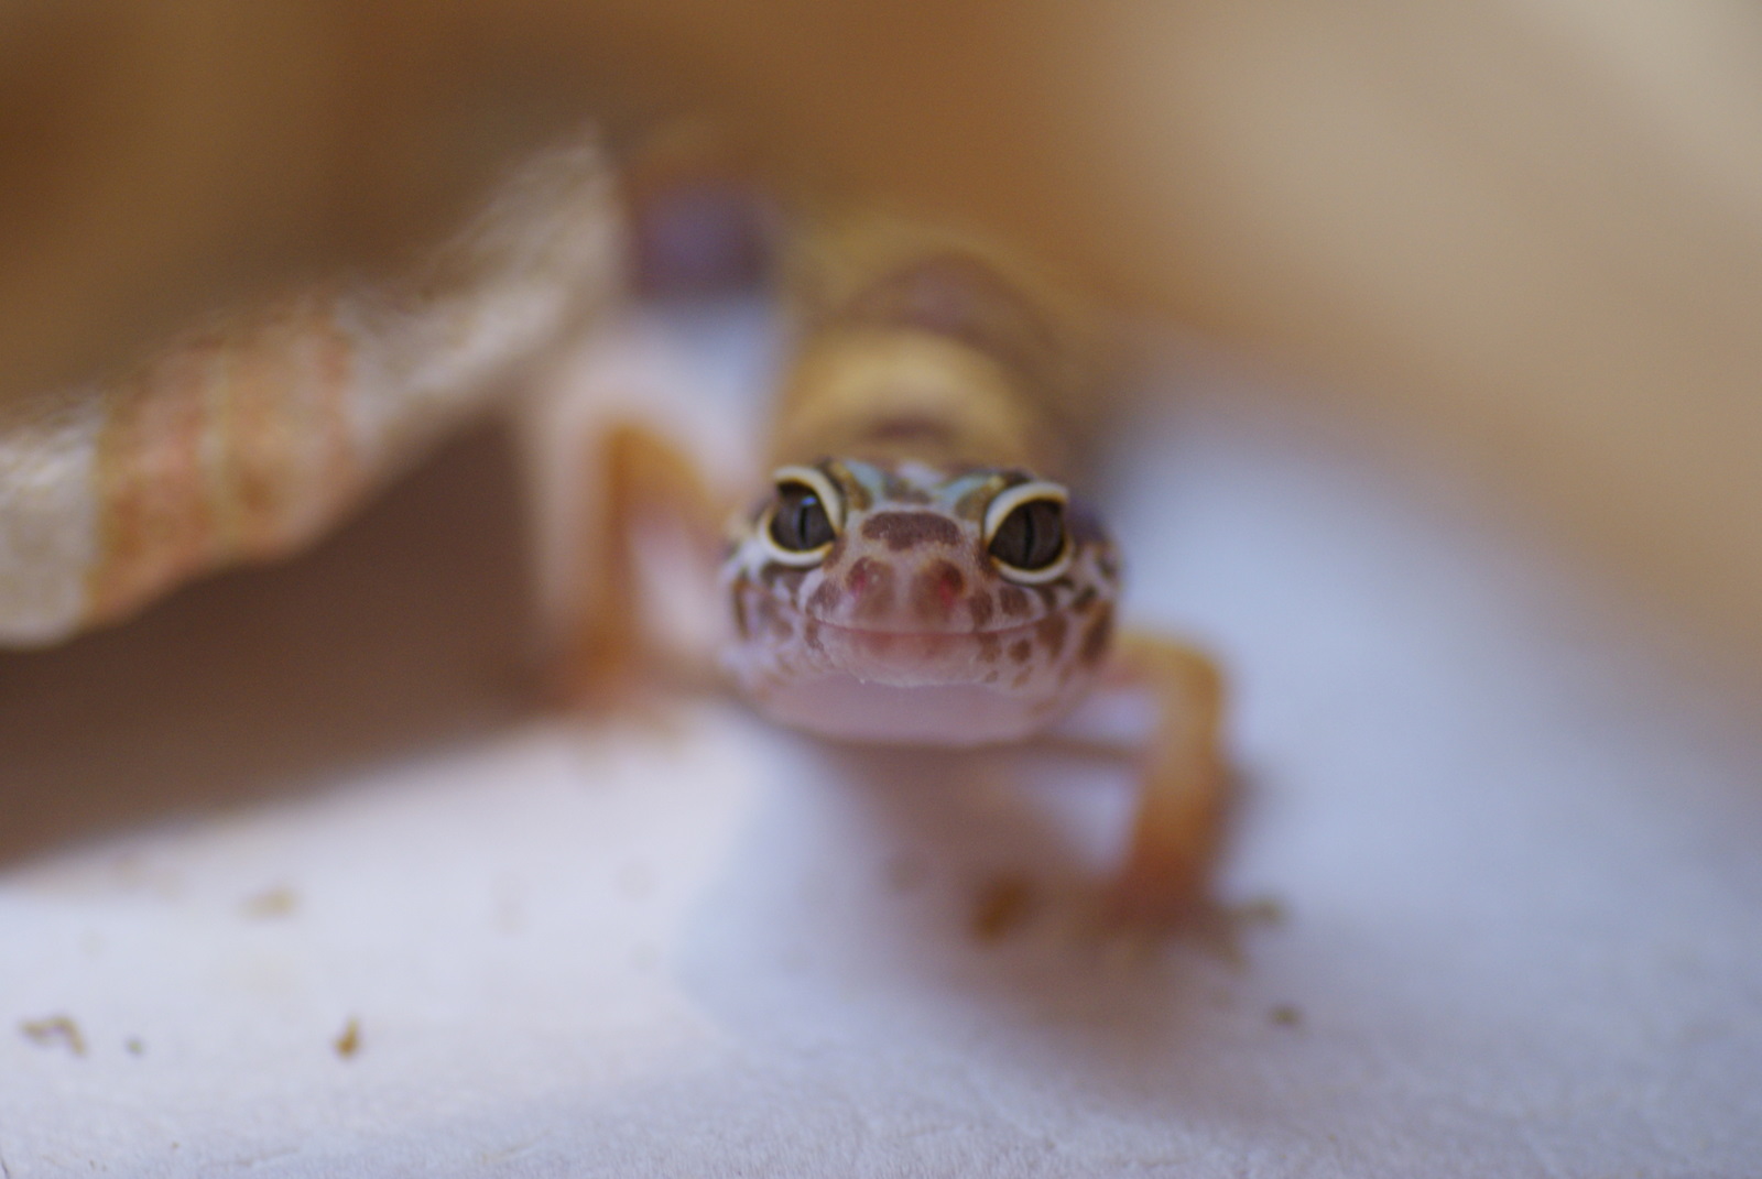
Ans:
[{"label": "white surface under the gecko, including its shadowed areas", "polygon": [[[1240,964],[1082,932],[1117,775],[523,714],[479,441],[0,661],[5,1174],[1762,1170],[1755,700],[1293,402],[1121,471],[1135,613],[1237,682]],[[985,943],[999,871],[1043,902]]]}]

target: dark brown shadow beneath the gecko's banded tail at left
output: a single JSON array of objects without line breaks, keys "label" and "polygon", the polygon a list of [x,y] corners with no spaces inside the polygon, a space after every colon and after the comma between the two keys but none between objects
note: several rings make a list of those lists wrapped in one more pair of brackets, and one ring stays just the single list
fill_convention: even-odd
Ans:
[{"label": "dark brown shadow beneath the gecko's banded tail at left", "polygon": [[301,557],[0,654],[0,864],[506,724],[530,696],[520,520],[479,430]]}]

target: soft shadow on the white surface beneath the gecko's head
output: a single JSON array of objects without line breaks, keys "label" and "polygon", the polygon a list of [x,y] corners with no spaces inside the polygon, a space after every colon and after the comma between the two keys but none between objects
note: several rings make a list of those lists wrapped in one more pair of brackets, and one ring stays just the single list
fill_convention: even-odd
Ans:
[{"label": "soft shadow on the white surface beneath the gecko's head", "polygon": [[1105,918],[1122,772],[812,742],[791,761],[694,916],[694,1001],[758,1042],[988,1029],[974,1043],[1010,1043],[1094,1093],[1182,1091],[1195,1029],[1249,964],[1203,929],[1136,936]]}]

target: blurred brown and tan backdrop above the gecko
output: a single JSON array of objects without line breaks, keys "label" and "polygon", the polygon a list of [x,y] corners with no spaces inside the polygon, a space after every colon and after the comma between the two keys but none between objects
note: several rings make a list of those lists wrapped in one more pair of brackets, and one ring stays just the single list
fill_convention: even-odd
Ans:
[{"label": "blurred brown and tan backdrop above the gecko", "polygon": [[710,111],[1464,448],[1762,652],[1762,11],[11,0],[0,397],[433,241],[511,159]]}]

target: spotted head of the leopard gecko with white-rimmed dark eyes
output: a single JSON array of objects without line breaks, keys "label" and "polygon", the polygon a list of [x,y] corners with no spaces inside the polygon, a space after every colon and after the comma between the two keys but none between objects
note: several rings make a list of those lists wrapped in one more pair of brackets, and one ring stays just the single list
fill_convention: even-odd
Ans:
[{"label": "spotted head of the leopard gecko with white-rimmed dark eyes", "polygon": [[724,663],[772,717],[851,740],[1013,740],[1103,664],[1117,559],[1064,486],[851,458],[772,479],[724,566]]}]

